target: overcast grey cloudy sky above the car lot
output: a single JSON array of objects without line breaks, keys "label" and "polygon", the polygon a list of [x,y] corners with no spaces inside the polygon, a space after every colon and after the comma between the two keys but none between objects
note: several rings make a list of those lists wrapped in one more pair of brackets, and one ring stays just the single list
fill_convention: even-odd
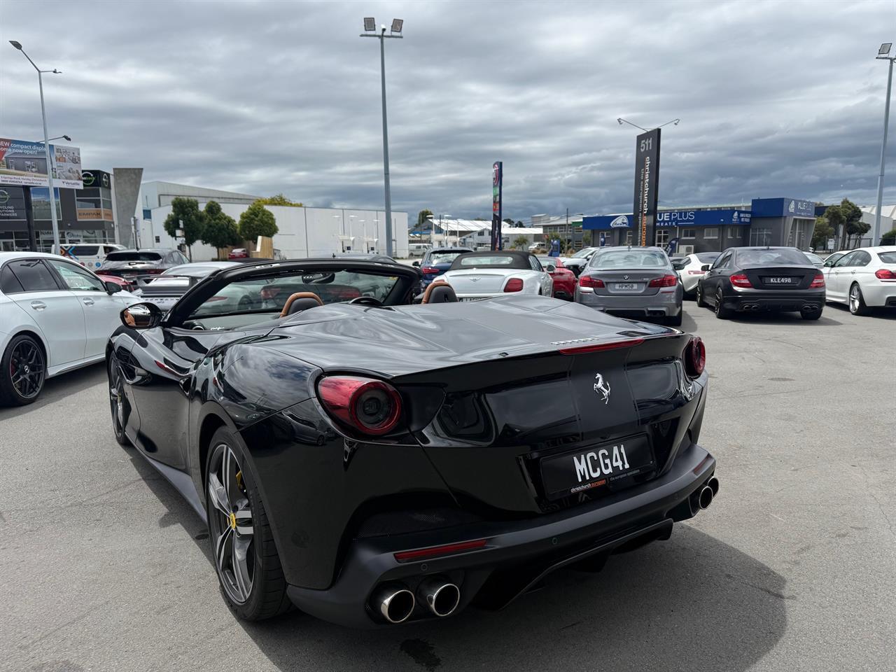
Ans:
[{"label": "overcast grey cloudy sky above the car lot", "polygon": [[[661,206],[874,202],[896,0],[86,2],[0,0],[0,136],[51,135],[86,168],[317,206],[490,217],[631,211],[634,124],[663,129]],[[896,115],[893,115],[896,116]],[[896,128],[885,202],[896,201]]]}]

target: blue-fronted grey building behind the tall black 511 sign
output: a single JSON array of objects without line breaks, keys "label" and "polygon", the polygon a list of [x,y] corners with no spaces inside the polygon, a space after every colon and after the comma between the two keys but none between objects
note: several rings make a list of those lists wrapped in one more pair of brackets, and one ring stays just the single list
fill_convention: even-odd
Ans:
[{"label": "blue-fronted grey building behind the tall black 511 sign", "polygon": [[[634,215],[582,218],[595,246],[634,245]],[[754,198],[749,207],[719,205],[659,208],[653,244],[676,254],[719,252],[737,246],[791,246],[807,250],[815,228],[815,202],[797,198]]]}]

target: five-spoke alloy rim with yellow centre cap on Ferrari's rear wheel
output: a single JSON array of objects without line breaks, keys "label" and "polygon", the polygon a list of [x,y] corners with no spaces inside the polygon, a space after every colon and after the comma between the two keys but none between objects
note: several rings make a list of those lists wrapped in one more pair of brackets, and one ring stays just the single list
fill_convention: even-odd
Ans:
[{"label": "five-spoke alloy rim with yellow centre cap on Ferrari's rear wheel", "polygon": [[252,509],[243,470],[227,444],[212,452],[208,491],[209,528],[221,585],[231,600],[244,604],[254,582]]}]

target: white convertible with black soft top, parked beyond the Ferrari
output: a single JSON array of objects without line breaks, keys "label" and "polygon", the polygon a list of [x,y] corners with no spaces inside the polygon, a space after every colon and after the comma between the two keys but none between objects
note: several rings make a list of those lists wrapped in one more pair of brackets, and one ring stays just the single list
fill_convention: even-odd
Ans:
[{"label": "white convertible with black soft top, parked beyond the Ferrari", "polygon": [[497,251],[461,254],[439,280],[448,282],[461,301],[500,297],[510,292],[554,295],[554,280],[528,252]]}]

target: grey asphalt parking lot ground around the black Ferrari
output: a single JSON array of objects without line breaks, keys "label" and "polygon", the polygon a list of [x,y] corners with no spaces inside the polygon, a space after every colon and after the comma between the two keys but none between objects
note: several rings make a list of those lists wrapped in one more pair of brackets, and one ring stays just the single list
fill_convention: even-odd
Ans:
[{"label": "grey asphalt parking lot ground around the black Ferrari", "polygon": [[685,311],[711,371],[711,508],[503,612],[392,630],[238,622],[202,523],[116,444],[103,367],[49,381],[0,409],[0,668],[892,669],[896,315]]}]

